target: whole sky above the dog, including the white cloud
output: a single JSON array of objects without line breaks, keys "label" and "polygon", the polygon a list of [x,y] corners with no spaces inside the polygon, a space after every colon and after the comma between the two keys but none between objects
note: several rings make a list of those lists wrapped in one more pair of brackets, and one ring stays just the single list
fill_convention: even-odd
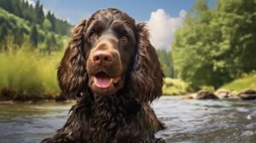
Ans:
[{"label": "whole sky above the dog, including the white cloud", "polygon": [[[26,0],[34,4],[38,0]],[[209,0],[211,5],[217,0]],[[137,22],[146,22],[150,41],[156,49],[172,49],[175,30],[183,25],[186,14],[195,0],[40,0],[45,11],[52,11],[75,25],[90,17],[96,10],[117,8]]]}]

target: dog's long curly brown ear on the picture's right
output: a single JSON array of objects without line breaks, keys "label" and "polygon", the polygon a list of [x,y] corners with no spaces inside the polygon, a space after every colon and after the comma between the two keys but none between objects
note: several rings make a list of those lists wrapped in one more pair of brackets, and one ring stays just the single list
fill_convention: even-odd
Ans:
[{"label": "dog's long curly brown ear on the picture's right", "polygon": [[145,23],[137,24],[137,54],[131,71],[132,94],[140,102],[152,102],[162,94],[164,73]]}]

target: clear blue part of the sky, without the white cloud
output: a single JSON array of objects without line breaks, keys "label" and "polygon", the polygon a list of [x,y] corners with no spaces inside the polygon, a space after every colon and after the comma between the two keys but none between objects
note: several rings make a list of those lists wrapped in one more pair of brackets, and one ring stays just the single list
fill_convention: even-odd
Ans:
[{"label": "clear blue part of the sky, without the white cloud", "polygon": [[[36,0],[34,0],[36,1]],[[193,0],[40,0],[44,8],[53,11],[58,17],[72,24],[89,17],[98,9],[117,8],[130,14],[137,21],[149,20],[150,14],[157,9],[164,9],[173,17],[181,9],[188,11]]]}]

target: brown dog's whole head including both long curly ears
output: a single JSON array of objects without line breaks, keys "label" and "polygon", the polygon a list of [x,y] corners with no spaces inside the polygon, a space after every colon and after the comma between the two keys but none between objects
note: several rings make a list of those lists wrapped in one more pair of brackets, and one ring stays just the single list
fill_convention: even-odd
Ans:
[{"label": "brown dog's whole head including both long curly ears", "polygon": [[145,24],[118,9],[102,9],[73,28],[61,60],[58,80],[63,94],[76,99],[126,89],[138,101],[159,97],[163,72]]}]

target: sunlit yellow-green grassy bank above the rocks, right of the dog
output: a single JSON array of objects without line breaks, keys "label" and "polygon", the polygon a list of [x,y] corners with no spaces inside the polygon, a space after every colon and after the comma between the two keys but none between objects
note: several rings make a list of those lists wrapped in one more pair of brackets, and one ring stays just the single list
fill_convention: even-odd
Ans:
[{"label": "sunlit yellow-green grassy bank above the rocks, right of the dog", "polygon": [[[238,95],[244,92],[252,92],[256,90],[256,72],[251,72],[249,74],[244,74],[241,77],[235,79],[230,83],[226,83],[221,86],[219,89],[213,89],[211,87],[202,87],[201,90],[206,90],[212,94],[220,94],[219,98],[223,99],[222,96],[230,96],[232,98],[239,98]],[[199,91],[189,90],[187,83],[184,83],[178,79],[166,78],[165,85],[163,88],[164,95],[186,95],[187,97],[192,98],[190,95],[195,96]]]}]

